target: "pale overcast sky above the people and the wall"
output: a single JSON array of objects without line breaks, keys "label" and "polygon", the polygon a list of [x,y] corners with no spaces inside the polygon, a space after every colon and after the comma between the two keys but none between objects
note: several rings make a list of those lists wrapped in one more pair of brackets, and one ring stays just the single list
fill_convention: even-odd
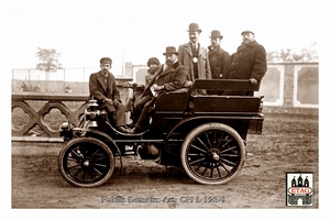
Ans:
[{"label": "pale overcast sky above the people and the wall", "polygon": [[[55,48],[64,67],[98,67],[102,56],[113,65],[163,62],[166,46],[188,42],[189,23],[199,24],[200,42],[220,30],[221,46],[233,53],[240,33],[250,29],[266,51],[306,47],[318,42],[318,1],[94,0],[11,3],[12,68],[34,68],[37,47]],[[19,62],[16,62],[19,61]]]}]

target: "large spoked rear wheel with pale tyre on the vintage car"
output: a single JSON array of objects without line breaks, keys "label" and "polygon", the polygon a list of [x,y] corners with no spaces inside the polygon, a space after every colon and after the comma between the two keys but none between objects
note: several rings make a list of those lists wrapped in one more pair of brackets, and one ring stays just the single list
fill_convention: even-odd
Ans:
[{"label": "large spoked rear wheel with pale tyre on the vintage car", "polygon": [[185,138],[180,151],[187,175],[199,184],[220,185],[234,179],[245,161],[240,134],[222,123],[197,127]]}]

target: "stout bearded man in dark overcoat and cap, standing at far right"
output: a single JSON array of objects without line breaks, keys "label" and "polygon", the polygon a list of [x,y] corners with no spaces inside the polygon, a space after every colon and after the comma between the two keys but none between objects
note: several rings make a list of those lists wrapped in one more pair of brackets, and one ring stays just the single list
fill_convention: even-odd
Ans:
[{"label": "stout bearded man in dark overcoat and cap, standing at far right", "polygon": [[[267,70],[266,51],[254,38],[252,31],[243,31],[242,44],[232,55],[229,79],[248,79],[251,84],[261,82]],[[253,92],[226,91],[223,95],[253,96]]]}]

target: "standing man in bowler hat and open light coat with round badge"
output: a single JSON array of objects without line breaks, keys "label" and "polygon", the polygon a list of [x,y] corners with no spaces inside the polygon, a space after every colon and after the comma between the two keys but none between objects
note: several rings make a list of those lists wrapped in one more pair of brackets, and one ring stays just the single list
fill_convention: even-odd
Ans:
[{"label": "standing man in bowler hat and open light coat with round badge", "polygon": [[[178,62],[188,70],[188,80],[197,78],[211,79],[211,70],[207,48],[198,42],[201,29],[197,23],[190,23],[188,31],[189,42],[179,45]],[[204,91],[205,92],[205,91]]]}]

